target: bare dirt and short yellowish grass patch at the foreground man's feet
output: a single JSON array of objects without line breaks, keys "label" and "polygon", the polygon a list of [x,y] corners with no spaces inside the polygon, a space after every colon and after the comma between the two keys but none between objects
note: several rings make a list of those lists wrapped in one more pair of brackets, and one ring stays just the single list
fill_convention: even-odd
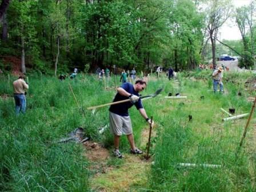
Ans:
[{"label": "bare dirt and short yellowish grass patch at the foreground man's feet", "polygon": [[[153,129],[155,130],[155,129]],[[152,137],[155,135],[152,133]],[[141,134],[141,146],[145,147],[149,137],[149,128]],[[91,147],[93,146],[93,147]],[[113,157],[109,150],[97,143],[87,142],[86,157],[91,160],[90,169],[95,171],[91,180],[91,187],[95,191],[136,191],[147,185],[147,174],[151,161],[145,160],[143,155],[125,153],[123,159]]]}]

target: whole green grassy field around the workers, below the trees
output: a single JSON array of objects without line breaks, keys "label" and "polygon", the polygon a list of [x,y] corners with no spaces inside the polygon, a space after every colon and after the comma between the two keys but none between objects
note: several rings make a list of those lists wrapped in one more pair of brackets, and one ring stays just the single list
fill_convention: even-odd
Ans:
[{"label": "whole green grassy field around the workers, below the trees", "polygon": [[[162,95],[143,101],[147,114],[154,117],[156,124],[150,151],[153,156],[147,164],[130,156],[129,144],[122,137],[120,150],[127,158],[115,159],[110,155],[105,166],[112,168],[105,174],[97,170],[97,166],[91,169],[93,163],[100,162],[87,159],[83,145],[57,141],[75,128],[83,127],[92,141],[111,152],[113,141],[109,131],[98,133],[98,128],[108,123],[108,107],[94,113],[86,108],[112,101],[114,77],[104,85],[94,75],[79,74],[73,80],[60,82],[54,77],[31,74],[27,112],[18,117],[14,114],[11,86],[15,78],[2,78],[5,81],[0,82],[0,190],[255,191],[255,118],[241,153],[235,155],[247,118],[222,122],[227,114],[220,110],[234,107],[235,114],[250,113],[252,102],[247,98],[255,97],[255,92],[245,90],[245,82],[255,79],[255,75],[225,73],[225,93],[213,94],[210,74],[210,71],[187,72],[179,74],[175,81],[168,81],[164,75],[159,79],[150,77],[143,95],[164,87]],[[109,88],[104,89],[106,86]],[[238,96],[238,92],[242,96]],[[164,98],[169,93],[186,95],[187,99]],[[135,107],[130,115],[135,143],[144,150],[146,143],[142,142],[141,135],[148,126]],[[137,160],[133,161],[133,157]],[[197,166],[185,167],[179,163]],[[129,169],[138,176],[124,174]],[[127,185],[117,187],[122,177]]]}]

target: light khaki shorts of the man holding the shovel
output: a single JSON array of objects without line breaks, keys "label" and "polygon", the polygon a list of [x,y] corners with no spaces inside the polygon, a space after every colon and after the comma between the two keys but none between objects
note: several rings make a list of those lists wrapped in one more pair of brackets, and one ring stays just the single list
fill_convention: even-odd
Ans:
[{"label": "light khaki shorts of the man holding the shovel", "polygon": [[133,133],[130,116],[122,117],[111,112],[109,112],[109,128],[110,133],[115,135],[129,135]]}]

